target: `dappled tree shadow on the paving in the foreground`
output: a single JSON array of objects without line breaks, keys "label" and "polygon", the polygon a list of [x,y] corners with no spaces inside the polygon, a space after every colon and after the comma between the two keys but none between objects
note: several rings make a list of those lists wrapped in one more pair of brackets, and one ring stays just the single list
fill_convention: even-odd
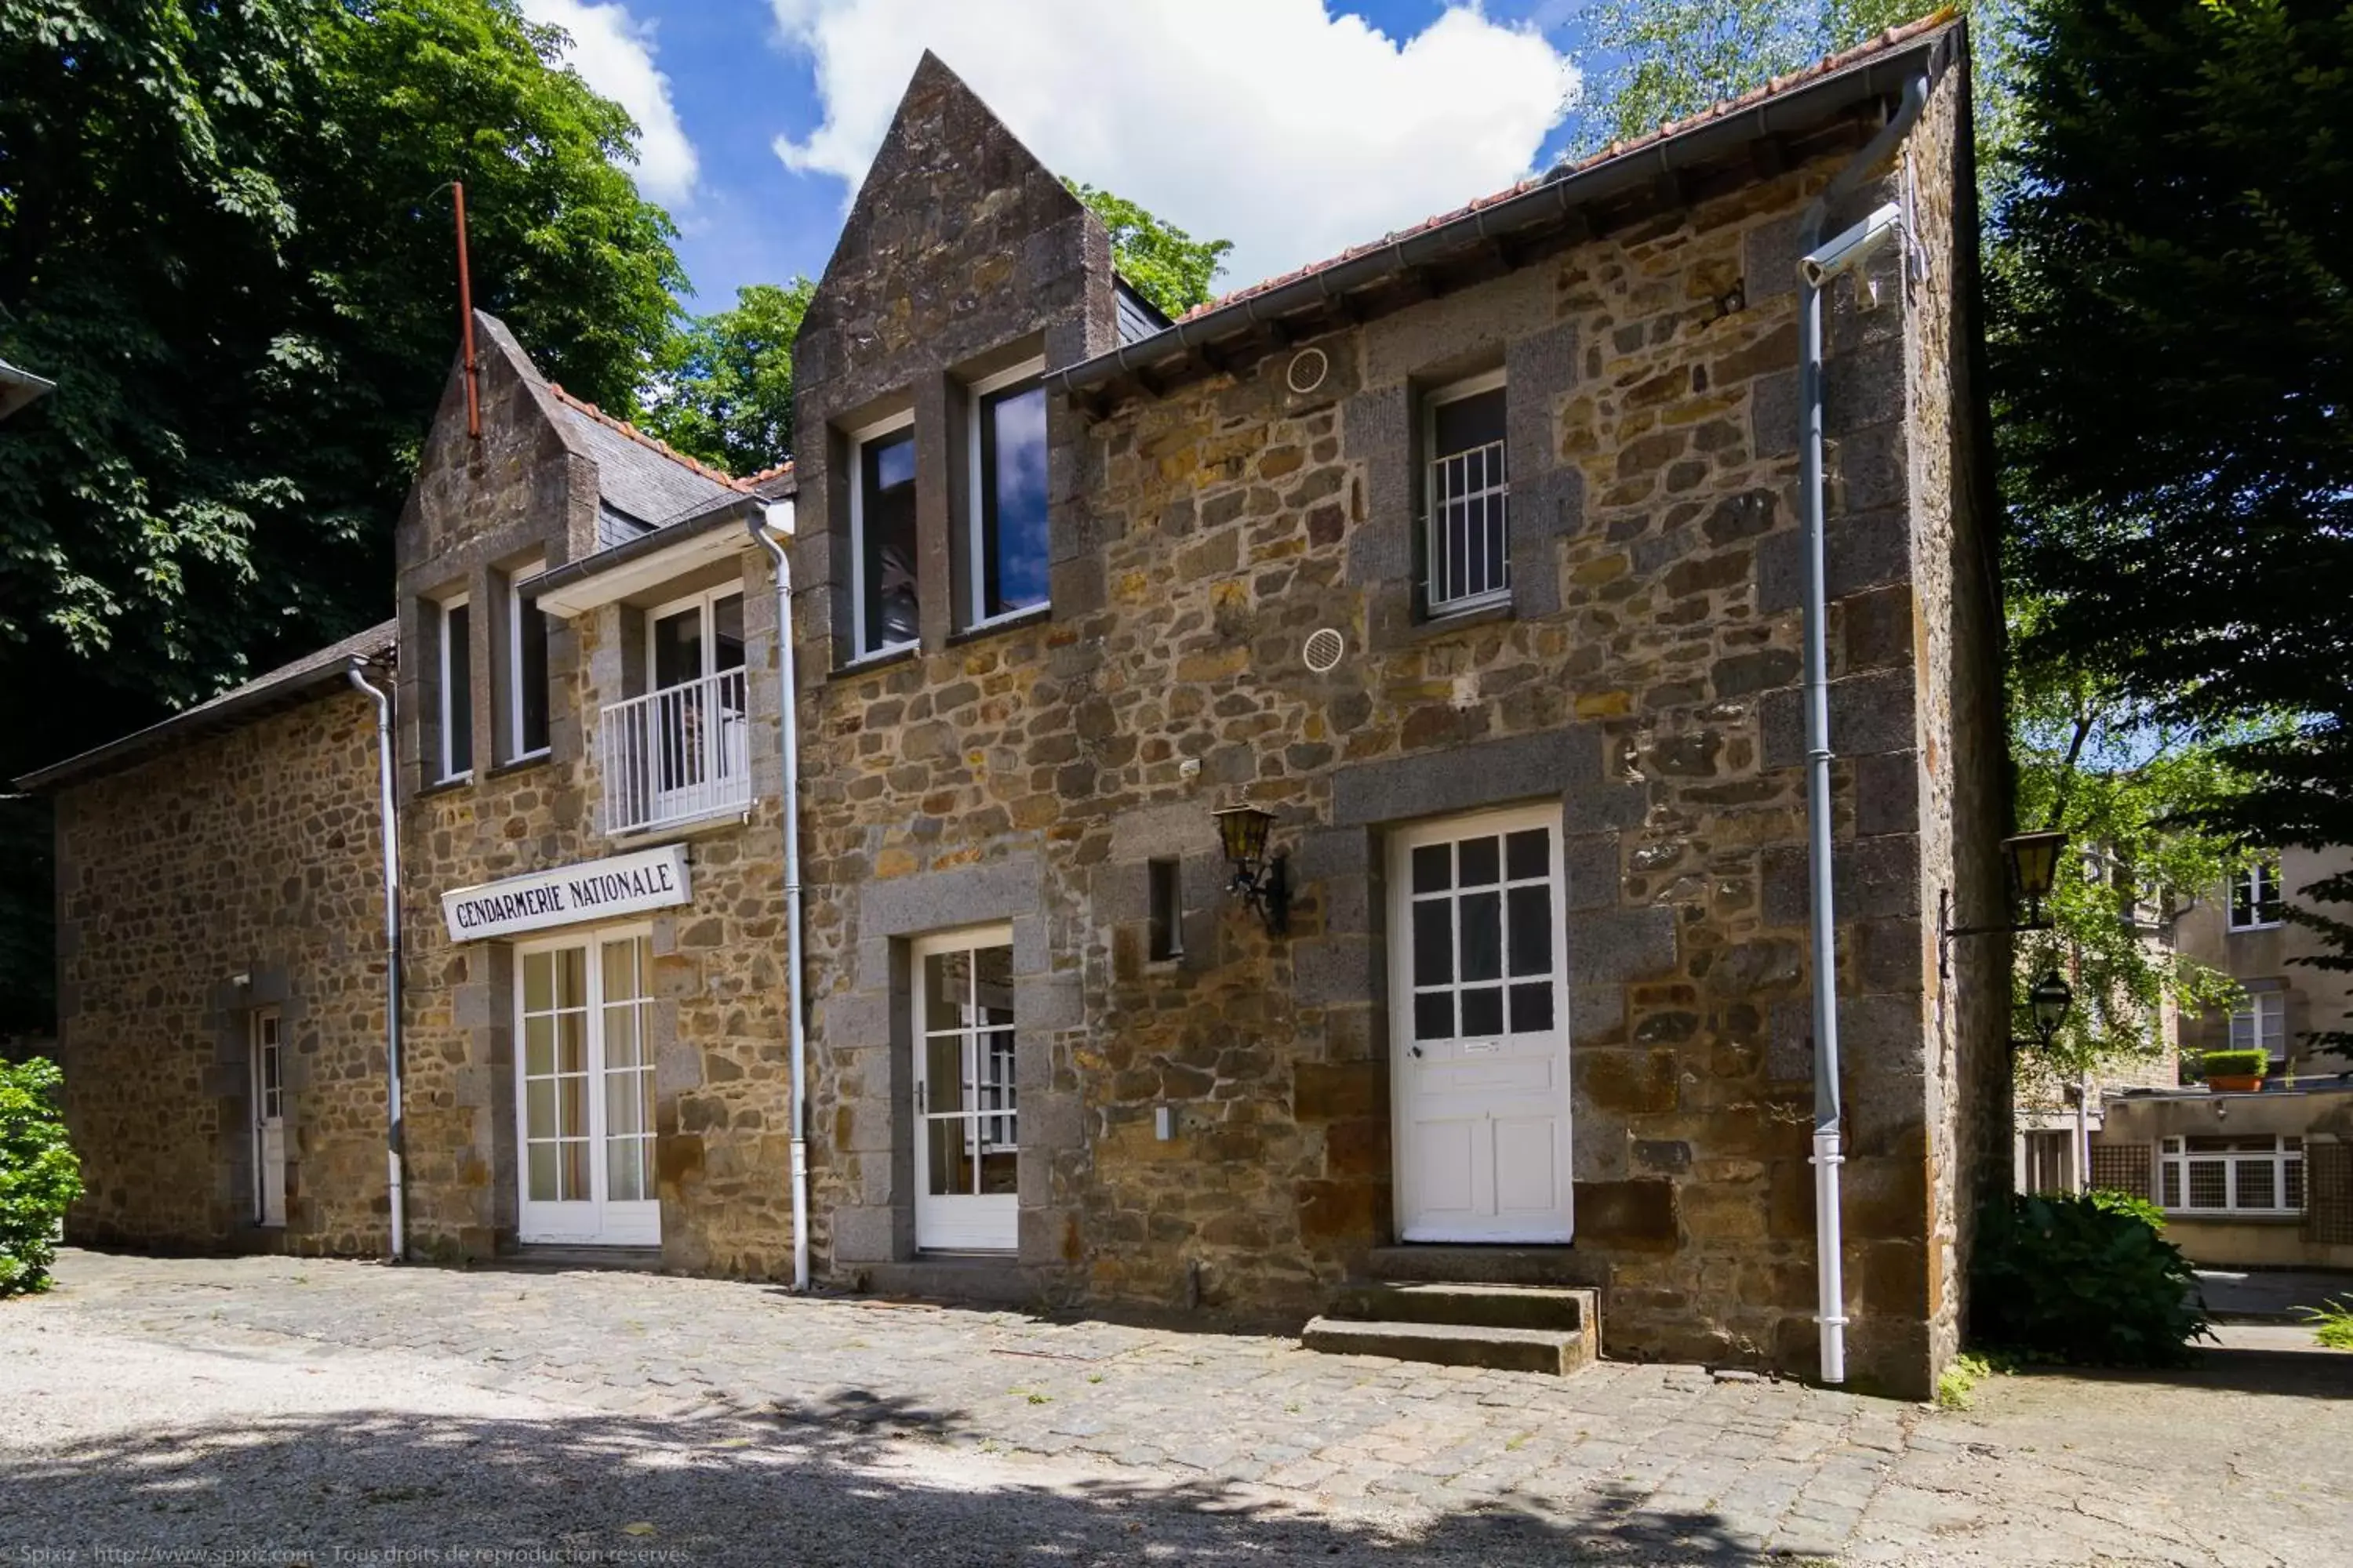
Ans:
[{"label": "dappled tree shadow on the paving in the foreground", "polygon": [[[682,1420],[362,1413],[0,1455],[0,1549],[452,1563],[1760,1563],[1708,1512],[1591,1493],[1384,1528],[1224,1483],[1054,1479],[953,1410],[842,1392]],[[1068,1467],[1066,1467],[1068,1469]],[[235,1556],[228,1556],[235,1554]],[[122,1559],[115,1559],[122,1561]],[[165,1559],[153,1559],[165,1561]]]}]

